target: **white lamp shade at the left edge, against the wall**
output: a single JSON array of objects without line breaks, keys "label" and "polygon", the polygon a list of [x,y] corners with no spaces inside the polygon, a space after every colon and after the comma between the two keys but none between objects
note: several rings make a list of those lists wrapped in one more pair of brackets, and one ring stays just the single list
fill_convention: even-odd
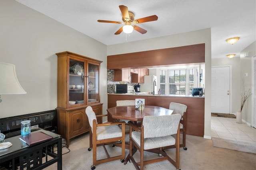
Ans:
[{"label": "white lamp shade at the left edge, against the wall", "polygon": [[15,65],[0,63],[0,95],[26,93],[16,76]]}]

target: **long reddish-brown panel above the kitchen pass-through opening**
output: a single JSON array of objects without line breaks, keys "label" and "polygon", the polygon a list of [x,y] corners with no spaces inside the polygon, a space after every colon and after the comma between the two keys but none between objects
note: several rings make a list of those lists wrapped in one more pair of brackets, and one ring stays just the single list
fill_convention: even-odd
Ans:
[{"label": "long reddish-brown panel above the kitchen pass-through opening", "polygon": [[108,69],[146,68],[205,62],[205,44],[109,55]]}]

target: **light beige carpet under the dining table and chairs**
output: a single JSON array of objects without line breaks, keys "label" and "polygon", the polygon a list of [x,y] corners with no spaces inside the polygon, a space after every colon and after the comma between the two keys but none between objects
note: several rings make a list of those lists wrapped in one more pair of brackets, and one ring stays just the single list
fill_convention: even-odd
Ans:
[{"label": "light beige carpet under the dining table and chairs", "polygon": [[[65,140],[63,141],[65,142]],[[66,148],[62,149],[62,170],[90,170],[92,165],[92,151],[88,151],[89,133],[80,135],[70,140],[68,152]],[[186,135],[186,147],[188,150],[180,148],[180,169],[181,170],[255,170],[256,154],[237,152],[234,150],[221,149],[212,146],[212,140],[204,139],[192,135]],[[118,147],[107,147],[110,154],[120,151]],[[176,149],[166,149],[167,154],[175,154]],[[129,150],[125,150],[126,156]],[[104,156],[102,147],[98,148],[100,157]],[[146,152],[147,156],[158,157],[158,154]],[[139,154],[136,152],[138,160]],[[175,159],[175,158],[174,158]],[[44,170],[56,170],[57,164],[46,167]],[[135,170],[132,162],[126,165],[115,160],[96,165],[95,170]],[[144,170],[176,170],[168,162],[155,162],[144,166]]]}]

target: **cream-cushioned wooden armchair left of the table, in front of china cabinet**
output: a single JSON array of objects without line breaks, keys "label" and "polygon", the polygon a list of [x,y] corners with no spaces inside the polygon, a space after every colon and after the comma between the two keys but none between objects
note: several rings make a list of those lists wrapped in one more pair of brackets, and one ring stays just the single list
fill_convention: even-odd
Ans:
[{"label": "cream-cushioned wooden armchair left of the table, in front of china cabinet", "polygon": [[[90,148],[88,148],[88,150],[90,151],[92,148],[93,164],[91,166],[91,169],[94,170],[97,164],[110,162],[112,160],[120,159],[121,162],[124,162],[125,122],[97,123],[97,116],[95,115],[91,106],[86,107],[85,112],[90,124]],[[120,128],[118,125],[121,125],[122,127]],[[122,141],[122,153],[120,155],[110,157],[105,145],[111,145],[116,141]],[[97,160],[96,149],[98,146],[103,146],[107,158]]]}]

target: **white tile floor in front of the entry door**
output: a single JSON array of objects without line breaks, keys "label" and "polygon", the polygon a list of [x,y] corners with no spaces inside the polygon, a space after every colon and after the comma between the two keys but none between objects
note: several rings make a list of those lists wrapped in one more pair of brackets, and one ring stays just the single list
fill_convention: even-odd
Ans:
[{"label": "white tile floor in front of the entry door", "polygon": [[211,117],[211,136],[256,144],[256,128],[234,118]]}]

